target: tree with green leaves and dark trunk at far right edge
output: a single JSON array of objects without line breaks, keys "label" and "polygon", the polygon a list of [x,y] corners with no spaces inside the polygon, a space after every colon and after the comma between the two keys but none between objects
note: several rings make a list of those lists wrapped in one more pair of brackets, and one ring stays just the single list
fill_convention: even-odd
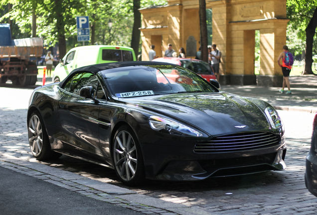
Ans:
[{"label": "tree with green leaves and dark trunk at far right edge", "polygon": [[317,1],[288,0],[287,15],[294,30],[301,29],[298,36],[306,37],[305,70],[303,74],[314,74],[312,64],[314,36],[317,27]]}]

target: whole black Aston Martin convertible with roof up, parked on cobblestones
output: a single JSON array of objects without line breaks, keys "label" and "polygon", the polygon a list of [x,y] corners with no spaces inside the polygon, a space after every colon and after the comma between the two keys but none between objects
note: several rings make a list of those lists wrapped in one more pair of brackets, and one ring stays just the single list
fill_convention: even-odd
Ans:
[{"label": "whole black Aston Martin convertible with roof up, parked on cobblestones", "polygon": [[38,160],[65,154],[113,168],[128,185],[284,170],[275,108],[219,89],[168,63],[82,67],[34,90],[30,148]]}]

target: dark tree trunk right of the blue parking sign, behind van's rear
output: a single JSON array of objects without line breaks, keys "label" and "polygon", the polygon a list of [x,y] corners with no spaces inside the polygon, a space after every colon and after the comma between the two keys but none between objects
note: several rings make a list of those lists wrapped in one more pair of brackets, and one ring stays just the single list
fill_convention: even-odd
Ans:
[{"label": "dark tree trunk right of the blue parking sign, behind van's rear", "polygon": [[132,30],[132,39],[131,39],[131,48],[133,48],[136,57],[138,58],[139,46],[140,46],[140,36],[141,36],[141,13],[140,9],[140,0],[133,0],[133,14],[134,14],[134,23]]}]

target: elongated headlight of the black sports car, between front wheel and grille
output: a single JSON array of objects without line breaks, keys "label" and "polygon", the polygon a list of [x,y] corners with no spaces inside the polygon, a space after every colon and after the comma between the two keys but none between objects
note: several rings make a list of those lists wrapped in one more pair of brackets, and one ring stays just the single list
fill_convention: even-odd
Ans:
[{"label": "elongated headlight of the black sports car, between front wheel and grille", "polygon": [[202,136],[202,133],[183,125],[179,122],[166,119],[159,116],[150,116],[149,123],[154,130],[162,131],[170,134]]}]

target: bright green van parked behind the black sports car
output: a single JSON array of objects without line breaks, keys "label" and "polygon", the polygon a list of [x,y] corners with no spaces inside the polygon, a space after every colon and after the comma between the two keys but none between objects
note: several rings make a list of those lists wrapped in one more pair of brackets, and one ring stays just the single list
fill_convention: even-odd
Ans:
[{"label": "bright green van parked behind the black sports car", "polygon": [[54,82],[64,80],[79,67],[118,61],[136,61],[134,50],[124,46],[89,45],[72,48],[55,67]]}]

